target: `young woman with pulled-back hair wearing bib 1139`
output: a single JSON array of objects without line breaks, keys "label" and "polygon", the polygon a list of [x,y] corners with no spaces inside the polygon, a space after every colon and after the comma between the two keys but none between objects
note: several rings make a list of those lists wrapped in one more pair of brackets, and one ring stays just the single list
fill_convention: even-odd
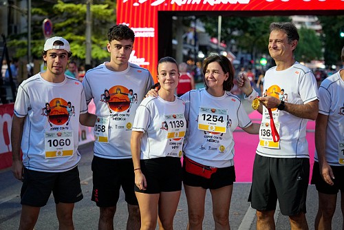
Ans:
[{"label": "young woman with pulled-back hair wearing bib 1139", "polygon": [[158,97],[145,98],[136,111],[131,134],[135,192],[141,229],[173,229],[182,191],[182,146],[185,103],[174,95],[180,73],[175,59],[158,62]]}]

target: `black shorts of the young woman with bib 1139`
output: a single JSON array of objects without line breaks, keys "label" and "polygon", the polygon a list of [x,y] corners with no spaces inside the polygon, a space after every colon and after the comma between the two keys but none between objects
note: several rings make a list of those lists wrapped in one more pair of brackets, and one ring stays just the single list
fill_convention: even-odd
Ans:
[{"label": "black shorts of the young woman with bib 1139", "polygon": [[180,158],[166,156],[140,160],[142,174],[147,181],[147,189],[135,191],[142,194],[160,194],[162,191],[182,190],[182,163]]}]

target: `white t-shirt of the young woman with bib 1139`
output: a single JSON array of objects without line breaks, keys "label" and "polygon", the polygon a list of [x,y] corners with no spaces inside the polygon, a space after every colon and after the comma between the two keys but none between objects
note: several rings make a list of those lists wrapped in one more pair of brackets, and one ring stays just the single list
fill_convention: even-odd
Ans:
[{"label": "white t-shirt of the young woman with bib 1139", "polygon": [[160,96],[144,98],[133,122],[133,131],[144,132],[140,159],[182,156],[184,112],[185,103],[177,96],[173,102],[164,101]]}]

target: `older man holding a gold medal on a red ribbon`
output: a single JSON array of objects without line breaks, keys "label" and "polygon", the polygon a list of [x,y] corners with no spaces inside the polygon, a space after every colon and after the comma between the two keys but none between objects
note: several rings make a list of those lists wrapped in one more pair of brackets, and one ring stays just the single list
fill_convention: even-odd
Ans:
[{"label": "older man holding a gold medal on a red ribbon", "polygon": [[[270,24],[268,50],[276,66],[266,71],[258,111],[263,114],[248,201],[257,213],[257,229],[275,229],[274,213],[289,217],[291,229],[308,229],[305,218],[310,156],[305,138],[308,119],[318,115],[318,89],[308,67],[294,60],[299,33],[293,23]],[[238,84],[251,101],[258,96],[246,76]],[[279,94],[288,94],[288,102]],[[263,107],[264,105],[264,107]],[[272,118],[268,109],[272,111]],[[279,141],[269,131],[275,121]],[[276,139],[275,139],[276,140]]]}]

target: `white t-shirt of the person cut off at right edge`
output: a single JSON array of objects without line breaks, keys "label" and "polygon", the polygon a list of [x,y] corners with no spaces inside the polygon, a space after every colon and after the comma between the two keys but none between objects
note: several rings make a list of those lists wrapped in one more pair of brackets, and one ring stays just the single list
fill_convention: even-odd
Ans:
[{"label": "white t-shirt of the person cut off at right edge", "polygon": [[[327,77],[319,87],[319,114],[328,116],[326,160],[335,166],[343,166],[338,163],[338,144],[344,143],[344,81],[339,72]],[[316,151],[314,160],[318,161]]]}]

